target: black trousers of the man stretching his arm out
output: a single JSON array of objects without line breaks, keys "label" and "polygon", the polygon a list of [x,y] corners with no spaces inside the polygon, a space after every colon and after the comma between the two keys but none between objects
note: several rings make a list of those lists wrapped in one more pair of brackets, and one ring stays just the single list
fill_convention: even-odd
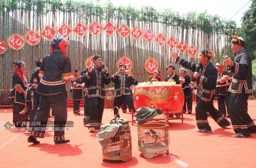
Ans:
[{"label": "black trousers of the man stretching his arm out", "polygon": [[196,96],[196,125],[199,129],[211,130],[209,122],[207,120],[206,111],[209,112],[214,121],[219,125],[223,126],[225,123],[229,123],[227,119],[219,112],[213,105],[214,96],[209,102],[206,102]]}]

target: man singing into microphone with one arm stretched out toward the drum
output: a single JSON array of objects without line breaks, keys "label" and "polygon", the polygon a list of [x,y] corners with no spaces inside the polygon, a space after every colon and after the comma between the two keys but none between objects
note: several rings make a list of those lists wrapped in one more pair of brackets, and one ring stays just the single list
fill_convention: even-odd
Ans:
[{"label": "man singing into microphone with one arm stretched out toward the drum", "polygon": [[[212,133],[207,120],[206,111],[209,112],[214,121],[221,127],[230,126],[231,123],[216,109],[213,105],[213,99],[216,92],[216,81],[218,77],[217,69],[210,62],[213,52],[202,49],[199,53],[198,62],[188,62],[177,53],[171,51],[170,57],[176,59],[176,64],[180,64],[187,69],[192,70],[193,77],[196,79],[196,125],[201,133]],[[196,68],[196,65],[199,65]],[[196,72],[197,70],[197,72]]]}]

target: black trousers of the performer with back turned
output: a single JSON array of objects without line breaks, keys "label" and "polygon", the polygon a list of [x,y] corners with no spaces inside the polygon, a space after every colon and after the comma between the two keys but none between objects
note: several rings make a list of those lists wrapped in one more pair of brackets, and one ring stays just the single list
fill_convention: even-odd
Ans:
[{"label": "black trousers of the performer with back turned", "polygon": [[[54,126],[54,141],[61,141],[64,140],[65,125],[67,122],[67,93],[65,90],[56,95],[40,95],[39,107],[37,109],[34,122],[40,123],[42,130],[38,130],[38,127],[35,127],[34,129],[32,127],[30,135],[33,137],[44,138],[45,124],[48,120],[52,101],[54,101],[56,107],[54,125],[59,125]],[[52,130],[52,127],[50,127],[50,129]]]}]

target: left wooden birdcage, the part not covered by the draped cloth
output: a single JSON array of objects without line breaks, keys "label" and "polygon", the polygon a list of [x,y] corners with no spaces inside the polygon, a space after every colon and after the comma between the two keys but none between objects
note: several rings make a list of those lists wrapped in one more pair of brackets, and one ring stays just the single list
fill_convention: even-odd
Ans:
[{"label": "left wooden birdcage, the part not covered by the draped cloth", "polygon": [[[110,121],[111,123],[116,118]],[[132,157],[131,128],[127,123],[121,125],[115,135],[108,141],[106,148],[102,147],[103,160],[122,160],[127,162]]]}]

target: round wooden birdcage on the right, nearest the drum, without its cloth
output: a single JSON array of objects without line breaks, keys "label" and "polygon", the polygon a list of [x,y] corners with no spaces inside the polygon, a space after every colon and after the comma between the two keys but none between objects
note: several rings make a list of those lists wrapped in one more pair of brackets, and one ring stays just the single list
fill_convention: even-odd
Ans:
[{"label": "round wooden birdcage on the right, nearest the drum, without its cloth", "polygon": [[150,121],[138,125],[139,151],[147,159],[155,153],[169,153],[169,125],[164,114],[158,114]]}]

